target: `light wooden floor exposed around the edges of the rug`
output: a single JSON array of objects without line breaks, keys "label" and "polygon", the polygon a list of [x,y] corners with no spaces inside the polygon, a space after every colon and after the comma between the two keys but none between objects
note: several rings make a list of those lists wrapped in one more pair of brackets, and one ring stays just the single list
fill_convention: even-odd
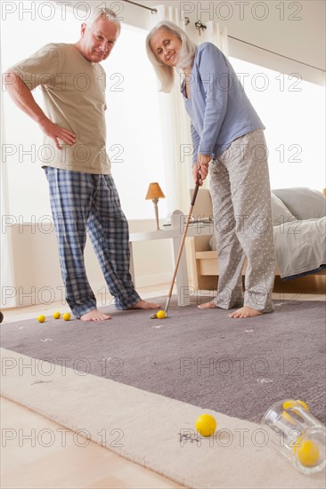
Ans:
[{"label": "light wooden floor exposed around the edges of the rug", "polygon": [[[162,285],[156,291],[143,289],[139,293],[143,298],[154,297],[165,295],[167,289],[168,285]],[[278,299],[277,294],[273,299]],[[284,299],[287,297],[284,296]],[[292,294],[289,294],[289,299],[293,299]],[[325,301],[325,296],[301,294],[299,299]],[[21,321],[41,312],[50,315],[56,309],[55,304],[52,304],[46,310],[42,306],[5,310],[4,321]],[[3,440],[0,485],[3,489],[182,487],[93,442],[78,446],[72,432],[67,431],[66,437],[63,437],[62,431],[58,431],[62,429],[60,425],[4,397],[1,398],[1,419]],[[37,440],[37,434],[42,429],[45,429],[43,433],[53,434],[52,443],[49,444],[51,446],[45,446],[50,436],[49,439],[41,438],[41,443]],[[35,446],[32,446],[34,441]]]}]

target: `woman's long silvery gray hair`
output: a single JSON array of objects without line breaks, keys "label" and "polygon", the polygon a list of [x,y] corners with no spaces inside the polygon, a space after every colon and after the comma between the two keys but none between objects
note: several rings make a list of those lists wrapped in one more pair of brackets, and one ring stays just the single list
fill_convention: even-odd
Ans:
[{"label": "woman's long silvery gray hair", "polygon": [[185,34],[182,28],[179,28],[176,24],[168,20],[162,20],[161,22],[159,22],[159,24],[155,26],[155,28],[151,29],[148,36],[146,37],[147,56],[149,57],[149,60],[153,65],[156,75],[159,78],[159,82],[161,84],[160,91],[171,92],[172,87],[175,83],[175,69],[173,67],[167,66],[163,63],[163,61],[159,60],[155,52],[153,52],[151,49],[151,39],[159,31],[160,28],[167,29],[171,34],[177,36],[181,41],[181,51],[179,53],[177,66],[175,67],[178,70],[192,67],[197,45],[192,43],[192,40],[189,36]]}]

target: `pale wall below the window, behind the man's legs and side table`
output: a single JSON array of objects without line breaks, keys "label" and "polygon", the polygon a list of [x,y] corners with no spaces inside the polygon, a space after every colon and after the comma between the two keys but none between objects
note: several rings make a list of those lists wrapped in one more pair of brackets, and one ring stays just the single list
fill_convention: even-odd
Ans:
[{"label": "pale wall below the window, behind the man's legs and side table", "polygon": [[[8,223],[9,224],[9,223]],[[155,220],[132,220],[130,232],[155,230]],[[5,231],[5,227],[3,231]],[[14,285],[2,284],[2,307],[66,304],[61,280],[58,248],[53,224],[48,220],[10,226]],[[133,244],[136,288],[166,284],[172,278],[171,240],[137,242]],[[98,306],[108,303],[109,293],[102,277],[92,244],[86,241],[86,271],[94,293],[99,295]]]}]

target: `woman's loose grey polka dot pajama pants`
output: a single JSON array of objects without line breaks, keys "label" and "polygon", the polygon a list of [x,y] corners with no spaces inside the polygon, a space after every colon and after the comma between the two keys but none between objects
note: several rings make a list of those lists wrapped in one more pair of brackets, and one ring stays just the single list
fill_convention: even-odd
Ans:
[{"label": "woman's loose grey polka dot pajama pants", "polygon": [[273,311],[276,262],[267,154],[259,129],[234,140],[209,164],[219,275],[214,303],[219,308]]}]

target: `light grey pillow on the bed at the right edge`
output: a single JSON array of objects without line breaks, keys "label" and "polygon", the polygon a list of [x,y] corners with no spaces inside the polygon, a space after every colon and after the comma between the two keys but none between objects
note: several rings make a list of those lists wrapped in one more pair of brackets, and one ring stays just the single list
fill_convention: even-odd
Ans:
[{"label": "light grey pillow on the bed at the right edge", "polygon": [[313,188],[280,188],[273,194],[281,198],[289,211],[299,220],[326,216],[326,198]]}]

